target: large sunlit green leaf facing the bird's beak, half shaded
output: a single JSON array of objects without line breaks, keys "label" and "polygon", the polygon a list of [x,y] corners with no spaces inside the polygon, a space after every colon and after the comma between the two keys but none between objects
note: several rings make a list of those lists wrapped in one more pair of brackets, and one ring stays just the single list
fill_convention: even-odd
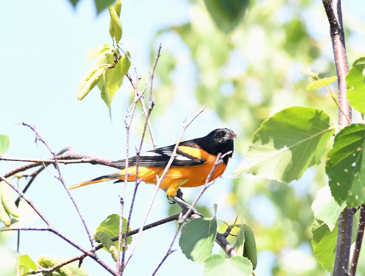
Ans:
[{"label": "large sunlit green leaf facing the bird's beak, half shaded", "polygon": [[261,124],[246,158],[248,172],[268,179],[290,182],[308,167],[319,164],[334,129],[322,110],[293,106]]}]

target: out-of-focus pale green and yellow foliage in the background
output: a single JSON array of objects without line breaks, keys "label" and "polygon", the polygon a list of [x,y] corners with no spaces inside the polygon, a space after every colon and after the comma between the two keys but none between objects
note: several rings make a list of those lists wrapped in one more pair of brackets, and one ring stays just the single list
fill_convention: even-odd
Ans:
[{"label": "out-of-focus pale green and yellow foliage in the background", "polygon": [[[335,75],[328,22],[322,21],[326,23],[324,26],[318,25],[320,21],[313,22],[316,15],[326,20],[322,3],[311,0],[251,2],[237,9],[237,14],[245,15],[240,23],[234,16],[231,22],[229,16],[224,16],[220,21],[227,25],[221,26],[217,15],[227,12],[228,8],[217,11],[215,2],[211,5],[207,2],[191,1],[190,21],[162,28],[151,43],[151,61],[161,40],[174,39],[180,47],[180,50],[176,50],[178,47],[170,49],[170,45],[164,44],[164,55],[155,72],[154,97],[160,101],[154,112],[165,114],[170,101],[176,97],[171,92],[174,89],[182,85],[192,87],[196,96],[192,102],[205,104],[220,120],[234,125],[239,133],[239,139],[235,140],[236,156],[245,155],[253,133],[263,120],[289,106],[322,109],[330,115],[331,123],[336,123],[337,107],[332,99],[322,88],[308,92],[308,79],[300,74],[310,66],[320,71],[321,78]],[[351,22],[344,24],[349,37],[354,27],[349,25]],[[316,33],[319,28],[324,35]],[[350,43],[346,45],[348,55],[356,53]],[[176,72],[184,66],[192,68],[191,75],[181,83]],[[161,102],[161,99],[166,101]],[[153,119],[158,120],[156,113]],[[225,202],[253,229],[258,269],[261,266],[263,272],[327,275],[311,245],[314,221],[311,204],[316,192],[327,183],[323,162],[291,183],[252,175],[233,179]],[[225,225],[219,226],[218,231],[224,232],[225,228]],[[270,256],[271,261],[260,264],[260,258],[264,258],[261,254]],[[363,266],[358,273],[365,273]]]}]

